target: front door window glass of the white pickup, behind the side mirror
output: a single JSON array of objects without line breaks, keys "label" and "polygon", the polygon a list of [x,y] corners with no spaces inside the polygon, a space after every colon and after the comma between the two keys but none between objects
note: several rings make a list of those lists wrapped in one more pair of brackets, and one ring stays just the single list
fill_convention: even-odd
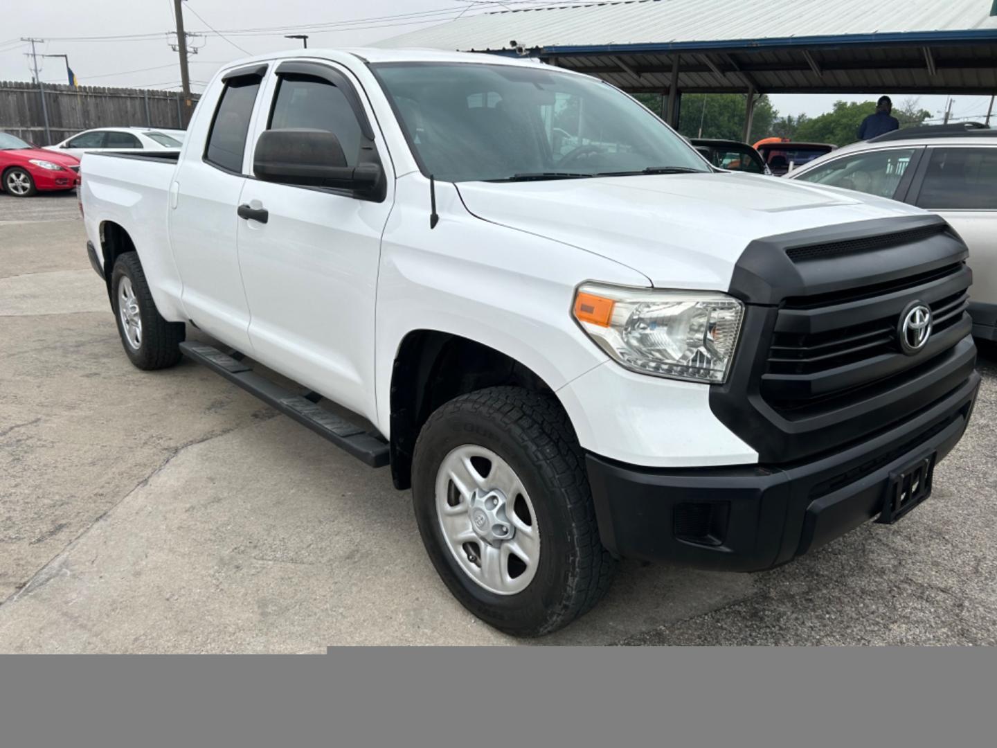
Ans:
[{"label": "front door window glass of the white pickup, behind the side mirror", "polygon": [[360,156],[360,123],[337,86],[311,76],[281,76],[268,129],[286,128],[332,133],[339,139],[347,166],[356,166]]}]

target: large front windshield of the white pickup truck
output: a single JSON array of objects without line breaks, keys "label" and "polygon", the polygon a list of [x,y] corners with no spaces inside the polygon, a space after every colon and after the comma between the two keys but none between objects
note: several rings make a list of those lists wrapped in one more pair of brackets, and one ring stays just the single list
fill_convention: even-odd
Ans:
[{"label": "large front windshield of the white pickup truck", "polygon": [[423,173],[438,180],[710,171],[647,109],[592,78],[525,65],[373,68]]}]

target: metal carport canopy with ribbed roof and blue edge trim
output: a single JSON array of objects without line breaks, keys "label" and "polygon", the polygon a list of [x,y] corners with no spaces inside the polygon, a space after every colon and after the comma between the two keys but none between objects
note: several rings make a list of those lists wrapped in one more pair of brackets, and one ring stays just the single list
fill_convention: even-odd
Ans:
[{"label": "metal carport canopy with ribbed roof and blue edge trim", "polygon": [[997,92],[997,0],[524,5],[379,46],[499,54],[521,47],[625,91],[669,93],[673,100],[680,92]]}]

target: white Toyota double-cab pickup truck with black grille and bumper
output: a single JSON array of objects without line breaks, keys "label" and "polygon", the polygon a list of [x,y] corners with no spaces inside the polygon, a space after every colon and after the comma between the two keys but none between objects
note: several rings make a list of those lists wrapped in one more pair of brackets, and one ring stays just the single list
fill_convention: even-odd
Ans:
[{"label": "white Toyota double-cab pickup truck with black grille and bumper", "polygon": [[717,170],[540,63],[266,55],[178,157],[82,172],[133,363],[185,355],[390,464],[444,581],[515,634],[619,558],[757,570],[894,522],[979,385],[943,219]]}]

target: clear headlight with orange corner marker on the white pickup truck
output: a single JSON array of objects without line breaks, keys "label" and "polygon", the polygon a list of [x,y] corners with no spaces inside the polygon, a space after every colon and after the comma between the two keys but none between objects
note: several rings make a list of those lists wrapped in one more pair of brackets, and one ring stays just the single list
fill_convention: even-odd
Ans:
[{"label": "clear headlight with orange corner marker on the white pickup truck", "polygon": [[722,384],[734,357],[744,305],[725,293],[642,290],[586,283],[574,318],[613,359],[633,371]]}]

